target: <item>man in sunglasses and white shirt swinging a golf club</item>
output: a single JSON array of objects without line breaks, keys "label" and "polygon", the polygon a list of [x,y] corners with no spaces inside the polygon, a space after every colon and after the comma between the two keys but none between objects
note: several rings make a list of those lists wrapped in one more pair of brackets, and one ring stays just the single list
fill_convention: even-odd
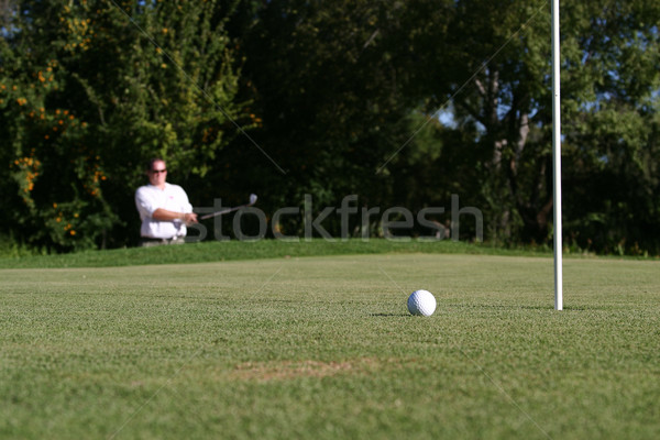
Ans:
[{"label": "man in sunglasses and white shirt swinging a golf club", "polygon": [[186,227],[197,223],[197,215],[184,188],[165,182],[167,167],[162,158],[153,158],[146,167],[148,185],[135,191],[135,206],[140,212],[142,246],[182,244]]}]

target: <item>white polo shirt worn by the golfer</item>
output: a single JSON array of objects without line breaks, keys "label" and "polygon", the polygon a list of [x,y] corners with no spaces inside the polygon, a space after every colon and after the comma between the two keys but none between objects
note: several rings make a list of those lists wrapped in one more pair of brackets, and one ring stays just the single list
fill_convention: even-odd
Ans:
[{"label": "white polo shirt worn by the golfer", "polygon": [[158,208],[174,212],[193,212],[193,205],[180,186],[167,183],[164,189],[153,185],[141,186],[135,191],[135,206],[142,220],[141,237],[152,239],[186,237],[186,224],[182,220],[160,221],[152,218]]}]

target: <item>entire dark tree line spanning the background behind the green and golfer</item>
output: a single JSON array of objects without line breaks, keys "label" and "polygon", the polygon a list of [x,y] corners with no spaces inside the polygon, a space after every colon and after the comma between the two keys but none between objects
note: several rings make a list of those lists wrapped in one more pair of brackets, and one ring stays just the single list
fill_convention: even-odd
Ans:
[{"label": "entire dark tree line spanning the background behind the green and golfer", "polygon": [[[0,7],[11,241],[134,245],[133,193],[163,156],[197,207],[255,193],[266,213],[306,195],[418,211],[458,195],[483,212],[485,240],[551,243],[547,0]],[[561,3],[566,246],[660,253],[658,23],[657,1]],[[295,235],[302,220],[276,228]]]}]

